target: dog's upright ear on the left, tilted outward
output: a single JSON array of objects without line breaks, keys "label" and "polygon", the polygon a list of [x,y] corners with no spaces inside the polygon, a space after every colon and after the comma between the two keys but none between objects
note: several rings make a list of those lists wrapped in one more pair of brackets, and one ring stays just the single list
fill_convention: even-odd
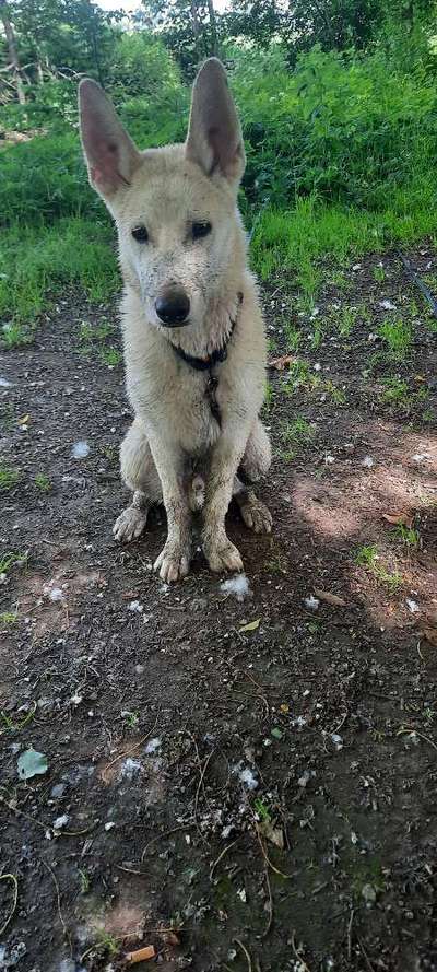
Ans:
[{"label": "dog's upright ear on the left, tilted outward", "polygon": [[118,120],[113,104],[96,81],[79,85],[81,137],[91,185],[110,198],[129,185],[141,161],[140,152]]}]

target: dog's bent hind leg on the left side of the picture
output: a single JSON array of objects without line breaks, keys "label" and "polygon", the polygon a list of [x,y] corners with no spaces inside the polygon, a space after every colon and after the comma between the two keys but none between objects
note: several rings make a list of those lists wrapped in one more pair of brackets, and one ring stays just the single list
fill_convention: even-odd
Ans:
[{"label": "dog's bent hind leg on the left side of the picture", "polygon": [[121,443],[120,467],[121,477],[132,490],[133,499],[116,519],[113,534],[116,540],[127,542],[142,534],[149,510],[163,499],[160,477],[139,419],[133,421]]}]

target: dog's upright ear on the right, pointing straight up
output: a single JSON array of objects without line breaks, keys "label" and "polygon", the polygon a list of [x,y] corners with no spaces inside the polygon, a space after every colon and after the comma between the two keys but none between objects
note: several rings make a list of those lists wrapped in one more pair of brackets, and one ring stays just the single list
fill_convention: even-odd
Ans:
[{"label": "dog's upright ear on the right, pointing straight up", "polygon": [[238,184],[245,169],[241,126],[226,71],[215,57],[204,62],[194,81],[186,155],[206,175],[218,171],[231,184]]}]

